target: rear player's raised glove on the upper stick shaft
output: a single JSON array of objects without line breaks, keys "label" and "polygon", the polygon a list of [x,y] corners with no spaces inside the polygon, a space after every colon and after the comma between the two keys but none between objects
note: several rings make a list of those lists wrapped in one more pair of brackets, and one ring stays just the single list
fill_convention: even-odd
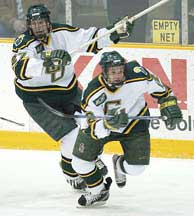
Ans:
[{"label": "rear player's raised glove on the upper stick shaft", "polygon": [[131,36],[134,27],[134,22],[130,23],[128,21],[128,16],[125,16],[117,19],[116,22],[113,23],[113,25],[108,26],[107,29],[112,29],[120,24],[123,25],[110,34],[110,39],[115,44],[118,43],[121,39]]}]

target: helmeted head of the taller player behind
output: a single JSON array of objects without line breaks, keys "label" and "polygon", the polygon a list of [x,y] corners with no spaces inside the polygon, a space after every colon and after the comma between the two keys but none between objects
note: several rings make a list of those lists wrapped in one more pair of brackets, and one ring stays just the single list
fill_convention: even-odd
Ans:
[{"label": "helmeted head of the taller player behind", "polygon": [[28,9],[26,25],[30,34],[44,40],[51,30],[50,11],[43,5],[33,5]]}]

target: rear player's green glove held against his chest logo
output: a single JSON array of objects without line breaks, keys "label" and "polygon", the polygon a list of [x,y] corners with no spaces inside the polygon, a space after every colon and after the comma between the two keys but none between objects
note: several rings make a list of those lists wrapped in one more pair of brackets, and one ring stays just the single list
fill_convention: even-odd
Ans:
[{"label": "rear player's green glove held against his chest logo", "polygon": [[44,60],[43,66],[46,68],[46,73],[62,70],[65,65],[71,63],[71,56],[65,50],[44,51],[41,58]]}]

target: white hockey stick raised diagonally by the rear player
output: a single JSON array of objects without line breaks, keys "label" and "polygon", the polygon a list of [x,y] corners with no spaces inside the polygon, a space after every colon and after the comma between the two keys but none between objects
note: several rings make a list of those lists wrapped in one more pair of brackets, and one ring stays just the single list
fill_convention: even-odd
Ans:
[{"label": "white hockey stick raised diagonally by the rear player", "polygon": [[147,14],[147,13],[153,11],[154,9],[160,7],[161,5],[165,4],[165,3],[168,2],[168,1],[169,1],[169,0],[162,0],[162,1],[160,1],[160,2],[158,2],[158,3],[156,3],[156,4],[154,4],[154,5],[152,5],[151,7],[149,7],[149,8],[147,8],[147,9],[141,11],[140,13],[138,13],[138,14],[136,14],[136,15],[130,17],[130,18],[129,18],[129,16],[126,16],[125,18],[123,18],[123,22],[121,21],[121,24],[119,24],[119,25],[113,27],[113,28],[110,29],[110,30],[107,30],[104,34],[102,34],[102,35],[100,35],[100,36],[98,36],[98,37],[96,37],[96,38],[94,38],[94,39],[92,39],[92,40],[90,40],[90,41],[88,41],[88,42],[82,44],[78,49],[74,49],[74,50],[70,51],[69,54],[73,54],[73,53],[75,53],[75,52],[79,52],[79,51],[81,51],[82,48],[84,48],[84,47],[86,47],[86,46],[88,46],[88,45],[90,45],[90,44],[96,42],[97,40],[99,40],[99,39],[101,39],[101,38],[103,38],[103,37],[105,37],[105,36],[111,34],[111,33],[114,32],[115,30],[117,30],[117,29],[119,29],[120,27],[122,27],[122,26],[125,24],[126,20],[128,20],[128,22],[132,23],[132,22],[135,21],[136,19],[138,19],[138,18],[144,16],[145,14]]}]

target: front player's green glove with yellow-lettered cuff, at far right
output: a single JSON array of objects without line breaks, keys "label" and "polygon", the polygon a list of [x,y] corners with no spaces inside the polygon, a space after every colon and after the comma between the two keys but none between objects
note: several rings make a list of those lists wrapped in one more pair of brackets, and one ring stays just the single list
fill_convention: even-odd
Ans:
[{"label": "front player's green glove with yellow-lettered cuff, at far right", "polygon": [[181,122],[183,119],[182,112],[177,105],[177,98],[174,96],[169,96],[167,98],[159,99],[160,113],[161,116],[166,116],[164,120],[166,126],[174,127],[176,124]]}]

